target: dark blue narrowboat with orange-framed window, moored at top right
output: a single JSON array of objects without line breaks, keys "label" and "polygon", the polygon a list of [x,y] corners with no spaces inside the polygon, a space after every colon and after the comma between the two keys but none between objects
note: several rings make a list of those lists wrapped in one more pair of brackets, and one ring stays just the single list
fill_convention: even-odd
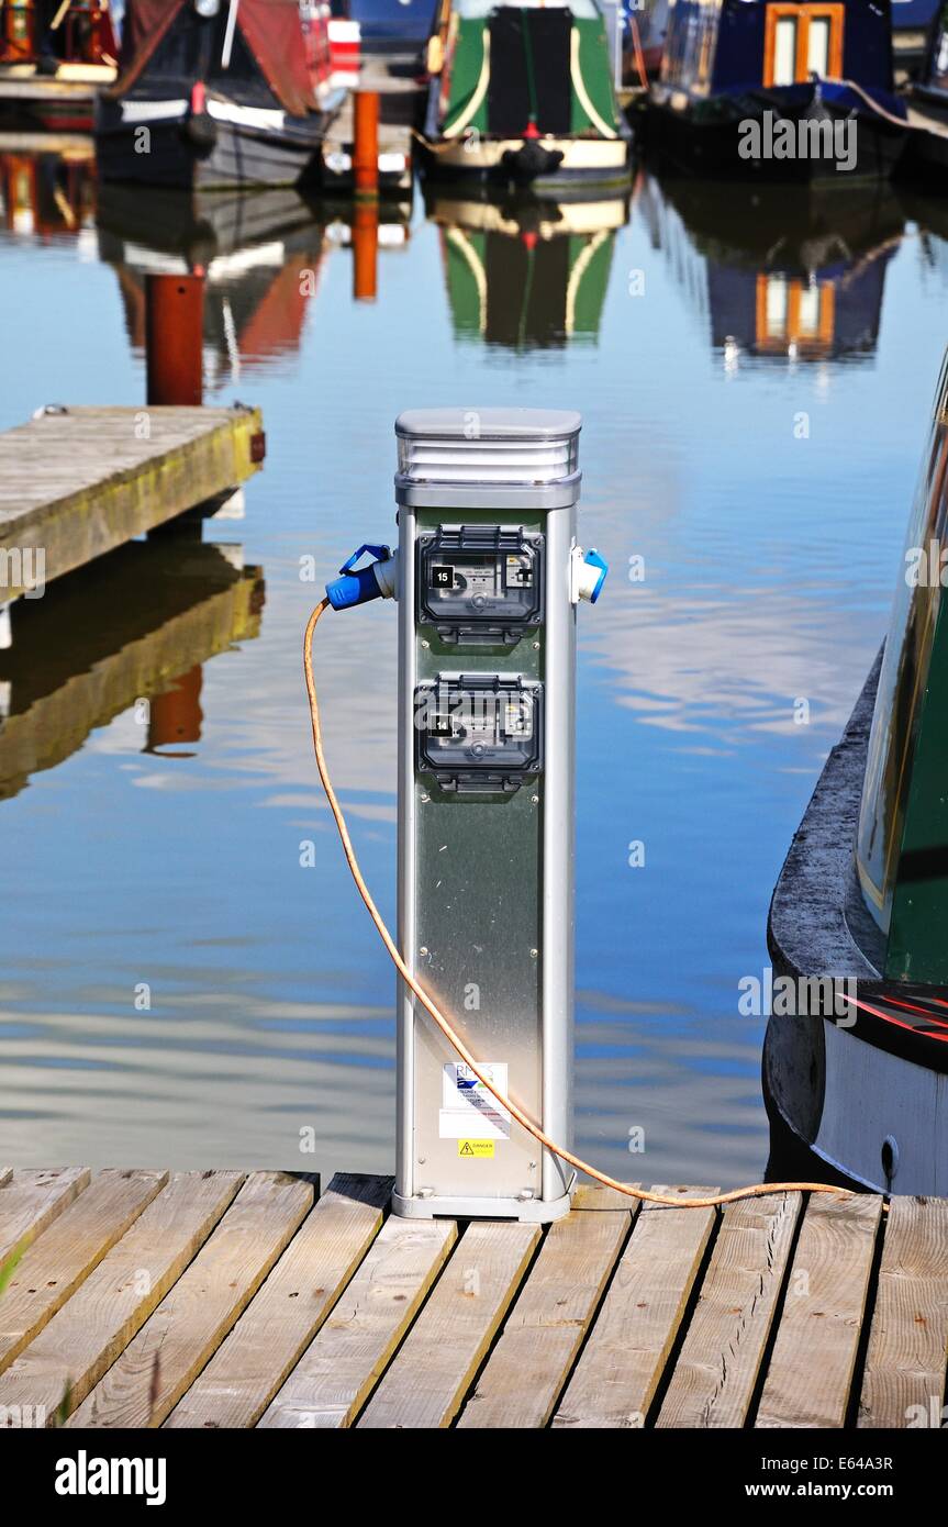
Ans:
[{"label": "dark blue narrowboat with orange-framed window, moored at top right", "polygon": [[647,105],[649,151],[672,171],[885,179],[907,139],[888,0],[672,0]]}]

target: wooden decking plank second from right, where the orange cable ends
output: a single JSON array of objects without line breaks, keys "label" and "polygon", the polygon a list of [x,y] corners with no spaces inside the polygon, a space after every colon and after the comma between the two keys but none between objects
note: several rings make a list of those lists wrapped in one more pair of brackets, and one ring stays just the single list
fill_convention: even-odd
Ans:
[{"label": "wooden decking plank second from right, where the orange cable ends", "polygon": [[875,1194],[811,1197],[757,1426],[846,1423],[881,1217],[882,1199]]}]

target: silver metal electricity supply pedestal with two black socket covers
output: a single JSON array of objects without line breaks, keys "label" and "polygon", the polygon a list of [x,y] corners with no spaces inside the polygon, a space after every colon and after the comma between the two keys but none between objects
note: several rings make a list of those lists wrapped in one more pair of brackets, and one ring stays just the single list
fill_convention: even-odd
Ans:
[{"label": "silver metal electricity supply pedestal with two black socket covers", "polygon": [[[398,944],[492,1081],[563,1144],[576,605],[606,576],[576,544],[580,425],[401,414],[397,574],[374,563],[400,608]],[[569,1176],[400,982],[395,1212],[554,1220]]]}]

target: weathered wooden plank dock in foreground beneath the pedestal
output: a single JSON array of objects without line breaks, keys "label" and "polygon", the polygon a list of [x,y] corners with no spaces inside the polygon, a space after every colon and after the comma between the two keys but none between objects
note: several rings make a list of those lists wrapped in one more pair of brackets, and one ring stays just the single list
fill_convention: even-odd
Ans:
[{"label": "weathered wooden plank dock in foreground beneath the pedestal", "polygon": [[945,1200],[583,1186],[543,1231],[401,1220],[391,1186],[0,1170],[0,1422],[939,1425]]}]

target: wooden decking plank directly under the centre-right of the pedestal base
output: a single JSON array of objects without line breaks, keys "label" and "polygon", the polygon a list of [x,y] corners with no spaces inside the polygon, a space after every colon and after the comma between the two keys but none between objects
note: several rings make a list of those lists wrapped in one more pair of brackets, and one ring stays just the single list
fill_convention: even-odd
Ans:
[{"label": "wooden decking plank directly under the centre-right of the pedestal base", "polygon": [[359,1426],[449,1426],[510,1307],[539,1225],[472,1223]]}]

